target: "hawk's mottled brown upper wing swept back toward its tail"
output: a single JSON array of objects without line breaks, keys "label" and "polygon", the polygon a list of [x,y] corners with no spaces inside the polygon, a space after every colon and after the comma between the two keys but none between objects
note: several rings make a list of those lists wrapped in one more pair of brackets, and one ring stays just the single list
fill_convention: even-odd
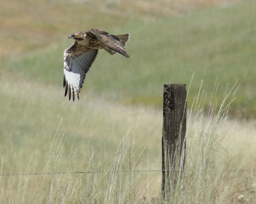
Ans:
[{"label": "hawk's mottled brown upper wing swept back toward its tail", "polygon": [[[112,49],[120,53],[121,55],[124,55],[127,58],[129,57],[129,55],[126,53],[124,49],[125,43],[121,42],[121,40],[117,36],[109,34],[101,29],[91,29],[90,32],[93,33],[99,39],[99,41],[105,46],[107,46],[109,49]],[[126,41],[129,40],[129,36],[130,35],[127,34]]]}]

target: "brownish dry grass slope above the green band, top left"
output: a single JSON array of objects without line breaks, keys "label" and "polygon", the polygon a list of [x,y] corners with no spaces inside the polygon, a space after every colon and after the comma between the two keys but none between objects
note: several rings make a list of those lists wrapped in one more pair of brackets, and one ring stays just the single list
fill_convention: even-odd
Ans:
[{"label": "brownish dry grass slope above the green band, top left", "polygon": [[10,1],[0,3],[0,57],[42,50],[68,34],[89,28],[113,29],[129,19],[180,15],[238,0],[210,1]]}]

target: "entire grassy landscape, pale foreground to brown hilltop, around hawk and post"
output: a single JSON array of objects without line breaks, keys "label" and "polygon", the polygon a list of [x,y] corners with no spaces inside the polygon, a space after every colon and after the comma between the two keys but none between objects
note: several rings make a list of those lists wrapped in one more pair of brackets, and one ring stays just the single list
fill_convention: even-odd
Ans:
[{"label": "entire grassy landscape, pale foreground to brown hilltop, around hawk and post", "polygon": [[[255,172],[228,171],[256,159],[256,3],[237,2],[1,1],[0,173],[160,170],[163,84],[193,76],[186,171],[170,202],[255,203]],[[93,27],[129,32],[131,58],[100,50],[68,102],[67,37]],[[0,203],[164,203],[161,176],[0,176]]]}]

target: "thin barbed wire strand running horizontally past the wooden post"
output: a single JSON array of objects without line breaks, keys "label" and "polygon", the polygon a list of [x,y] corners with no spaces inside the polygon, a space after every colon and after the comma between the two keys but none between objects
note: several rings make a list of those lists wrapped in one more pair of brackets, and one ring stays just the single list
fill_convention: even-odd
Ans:
[{"label": "thin barbed wire strand running horizontally past the wooden post", "polygon": [[[173,171],[173,170],[122,170],[122,171],[73,171],[73,172],[52,172],[52,173],[21,173],[21,174],[0,174],[0,176],[29,176],[29,175],[50,175],[50,174],[85,174],[85,173],[128,173],[128,172],[153,172],[153,171]],[[177,171],[177,170],[176,170]],[[208,171],[220,171],[220,170],[208,170]],[[254,169],[231,169],[223,171],[256,171]]]}]

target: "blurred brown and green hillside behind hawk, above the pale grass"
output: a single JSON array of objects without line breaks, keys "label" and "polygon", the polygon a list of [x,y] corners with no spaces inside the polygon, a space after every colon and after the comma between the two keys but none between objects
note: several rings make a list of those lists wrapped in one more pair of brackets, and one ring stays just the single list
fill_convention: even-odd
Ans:
[{"label": "blurred brown and green hillside behind hawk, above the pale grass", "polygon": [[[189,84],[188,105],[204,80],[210,92],[238,79],[230,112],[255,117],[255,3],[253,1],[1,1],[1,75],[62,85],[63,50],[70,33],[101,28],[130,33],[130,59],[100,52],[87,74],[88,92],[123,104],[160,108],[164,83]],[[5,78],[5,77],[4,77]],[[65,100],[65,99],[63,99]],[[73,104],[69,104],[73,105]]]}]

